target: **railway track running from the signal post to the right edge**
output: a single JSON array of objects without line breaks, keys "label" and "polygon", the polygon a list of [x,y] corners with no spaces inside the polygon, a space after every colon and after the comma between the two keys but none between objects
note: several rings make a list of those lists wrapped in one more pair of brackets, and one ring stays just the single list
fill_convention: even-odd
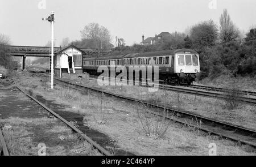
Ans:
[{"label": "railway track running from the signal post to the right edge", "polygon": [[[40,75],[40,76],[46,76],[46,75]],[[191,126],[195,129],[199,129],[201,131],[207,132],[208,134],[218,135],[221,138],[230,139],[230,140],[233,140],[234,142],[250,145],[251,147],[256,148],[256,139],[255,139],[256,131],[255,130],[246,129],[245,127],[217,121],[211,118],[207,118],[201,115],[187,112],[185,110],[168,108],[160,104],[151,104],[150,102],[147,102],[147,101],[142,101],[142,100],[134,99],[131,97],[116,95],[111,92],[102,91],[101,89],[86,87],[80,84],[74,84],[62,79],[55,78],[55,83],[69,86],[79,91],[84,91],[85,89],[89,89],[90,91],[104,93],[105,95],[108,95],[108,96],[118,97],[119,99],[124,99],[127,101],[132,101],[139,104],[151,106],[151,108],[162,109],[163,111],[166,111],[168,114],[165,114],[164,112],[160,112],[160,113],[152,112],[152,114],[157,114],[160,117],[164,117],[172,121],[179,122],[185,126]],[[175,115],[175,117],[172,115]],[[198,126],[198,122],[189,122],[189,120],[191,121],[191,119],[199,120],[201,122],[201,126]]]}]

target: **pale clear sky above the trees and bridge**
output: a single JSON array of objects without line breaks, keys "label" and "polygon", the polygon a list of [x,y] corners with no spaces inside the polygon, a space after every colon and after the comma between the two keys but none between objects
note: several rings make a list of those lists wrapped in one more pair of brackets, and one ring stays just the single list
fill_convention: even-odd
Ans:
[{"label": "pale clear sky above the trees and bridge", "polygon": [[55,43],[69,37],[80,40],[88,23],[99,23],[114,37],[133,45],[160,32],[184,32],[212,19],[216,24],[224,8],[245,33],[256,25],[255,0],[0,0],[0,33],[12,45],[44,46],[51,40],[47,18],[55,11]]}]

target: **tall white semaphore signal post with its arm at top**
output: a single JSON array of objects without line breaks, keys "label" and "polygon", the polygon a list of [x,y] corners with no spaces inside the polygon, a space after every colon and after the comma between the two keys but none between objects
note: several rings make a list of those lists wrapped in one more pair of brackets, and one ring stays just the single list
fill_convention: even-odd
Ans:
[{"label": "tall white semaphore signal post with its arm at top", "polygon": [[51,15],[48,16],[48,18],[43,18],[42,20],[48,20],[49,22],[51,22],[51,27],[52,27],[52,54],[51,54],[51,89],[53,89],[53,46],[54,46],[54,11],[51,12]]}]

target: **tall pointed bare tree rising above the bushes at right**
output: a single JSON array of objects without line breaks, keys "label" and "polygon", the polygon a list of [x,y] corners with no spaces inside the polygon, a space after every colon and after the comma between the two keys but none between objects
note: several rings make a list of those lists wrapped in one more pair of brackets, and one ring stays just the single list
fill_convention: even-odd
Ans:
[{"label": "tall pointed bare tree rising above the bushes at right", "polygon": [[239,35],[240,32],[238,28],[230,20],[228,10],[224,9],[224,12],[220,17],[220,40],[222,42],[237,40]]}]

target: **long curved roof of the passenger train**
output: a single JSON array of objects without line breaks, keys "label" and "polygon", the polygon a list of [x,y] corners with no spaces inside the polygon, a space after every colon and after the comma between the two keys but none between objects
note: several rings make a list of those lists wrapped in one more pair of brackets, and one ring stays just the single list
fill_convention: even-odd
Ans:
[{"label": "long curved roof of the passenger train", "polygon": [[104,59],[121,59],[121,58],[134,58],[134,57],[152,57],[152,56],[162,56],[162,55],[172,55],[176,53],[186,53],[198,54],[195,50],[191,49],[173,49],[173,50],[161,50],[156,52],[143,52],[143,53],[129,53],[122,55],[112,55],[108,57],[98,57],[98,58],[85,58],[85,60],[104,60]]}]

